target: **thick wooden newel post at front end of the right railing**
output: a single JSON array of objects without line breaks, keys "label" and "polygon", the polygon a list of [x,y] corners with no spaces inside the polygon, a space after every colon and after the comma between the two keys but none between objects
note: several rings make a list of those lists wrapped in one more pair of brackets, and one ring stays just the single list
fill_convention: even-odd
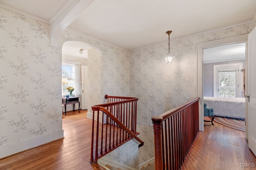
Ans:
[{"label": "thick wooden newel post at front end of the right railing", "polygon": [[155,141],[155,169],[162,170],[162,117],[154,116],[151,118],[154,129],[154,141]]}]

